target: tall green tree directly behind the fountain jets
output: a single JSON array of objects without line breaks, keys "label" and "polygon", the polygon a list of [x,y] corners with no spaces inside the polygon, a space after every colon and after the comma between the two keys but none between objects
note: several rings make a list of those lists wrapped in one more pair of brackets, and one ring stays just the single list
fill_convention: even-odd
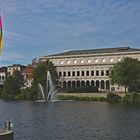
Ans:
[{"label": "tall green tree directly behind the fountain jets", "polygon": [[59,77],[56,72],[56,67],[54,66],[54,64],[49,60],[40,62],[33,72],[32,88],[33,88],[35,94],[37,94],[38,83],[40,83],[43,86],[43,88],[46,89],[47,71],[50,72],[52,81],[54,83],[57,83]]}]

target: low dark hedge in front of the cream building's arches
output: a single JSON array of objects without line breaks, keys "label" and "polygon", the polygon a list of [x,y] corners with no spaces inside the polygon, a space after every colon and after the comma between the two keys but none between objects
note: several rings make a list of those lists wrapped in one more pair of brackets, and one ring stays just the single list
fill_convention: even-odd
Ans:
[{"label": "low dark hedge in front of the cream building's arches", "polygon": [[98,88],[96,86],[84,86],[81,88],[68,89],[66,92],[68,93],[95,93],[95,92],[98,92]]}]

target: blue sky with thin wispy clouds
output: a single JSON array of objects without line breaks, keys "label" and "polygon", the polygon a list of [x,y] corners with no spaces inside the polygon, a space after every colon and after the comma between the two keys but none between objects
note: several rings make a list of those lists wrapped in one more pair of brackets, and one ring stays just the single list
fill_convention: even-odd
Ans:
[{"label": "blue sky with thin wispy clouds", "polygon": [[140,0],[0,0],[0,67],[70,50],[140,48]]}]

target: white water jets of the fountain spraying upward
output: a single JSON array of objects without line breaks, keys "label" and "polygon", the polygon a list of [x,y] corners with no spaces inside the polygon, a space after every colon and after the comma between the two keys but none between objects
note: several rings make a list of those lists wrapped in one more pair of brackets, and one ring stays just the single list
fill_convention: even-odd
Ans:
[{"label": "white water jets of the fountain spraying upward", "polygon": [[38,84],[38,86],[40,88],[43,101],[55,100],[57,87],[54,85],[49,71],[47,71],[46,93],[44,92],[43,87],[40,83]]}]

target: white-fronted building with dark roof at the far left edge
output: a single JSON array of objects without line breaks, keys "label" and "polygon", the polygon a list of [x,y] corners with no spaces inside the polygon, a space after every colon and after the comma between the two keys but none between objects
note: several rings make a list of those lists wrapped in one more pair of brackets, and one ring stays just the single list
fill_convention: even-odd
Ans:
[{"label": "white-fronted building with dark roof at the far left edge", "polygon": [[7,67],[1,67],[0,68],[0,85],[3,85],[5,83],[7,76]]}]

